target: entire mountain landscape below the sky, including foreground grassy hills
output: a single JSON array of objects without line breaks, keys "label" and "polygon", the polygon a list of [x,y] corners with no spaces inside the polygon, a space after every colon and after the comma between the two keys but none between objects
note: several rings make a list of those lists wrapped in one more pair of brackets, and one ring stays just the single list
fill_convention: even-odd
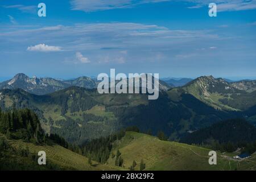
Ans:
[{"label": "entire mountain landscape below the sky, including foreground grassy hills", "polygon": [[[167,82],[159,81],[161,89],[157,100],[148,100],[147,94],[142,93],[99,94],[97,81],[89,77],[59,80],[18,74],[2,82],[0,113],[9,113],[10,117],[0,117],[1,126],[17,127],[19,125],[9,125],[7,119],[24,123],[26,113],[34,111],[40,127],[33,128],[35,135],[28,135],[32,131],[30,125],[20,125],[26,126],[26,132],[20,129],[11,134],[11,130],[7,132],[2,127],[5,134],[0,134],[0,147],[1,141],[9,147],[3,147],[0,154],[8,159],[0,158],[0,169],[140,170],[141,165],[134,162],[142,161],[147,170],[255,169],[255,81],[228,82],[201,76],[178,87]],[[17,109],[24,109],[21,117]],[[18,120],[11,117],[11,110]],[[30,117],[33,122],[35,114]],[[127,127],[138,127],[136,131],[141,133]],[[52,140],[36,133],[43,134],[42,129],[44,133],[63,137],[71,143],[69,147],[74,147],[65,148],[64,140],[54,143],[58,137]],[[123,137],[113,140],[111,150],[105,152],[105,145],[101,144],[122,129],[126,129]],[[31,136],[31,141],[15,139],[24,136]],[[46,141],[42,146],[35,144],[37,136]],[[93,159],[85,150],[75,147],[88,143],[92,143],[89,151],[90,147],[94,150],[99,147]],[[232,156],[242,152],[236,151],[237,148],[252,154],[250,161],[234,160]],[[47,150],[49,166],[37,165],[34,156],[38,150]],[[217,151],[217,165],[208,163],[210,150]],[[98,156],[104,157],[105,162]]]}]

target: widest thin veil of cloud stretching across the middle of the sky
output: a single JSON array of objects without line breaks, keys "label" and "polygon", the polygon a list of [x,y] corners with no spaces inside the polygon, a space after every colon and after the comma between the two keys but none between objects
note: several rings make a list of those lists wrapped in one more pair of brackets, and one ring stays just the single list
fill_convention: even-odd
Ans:
[{"label": "widest thin veil of cloud stretching across the middle of the sky", "polygon": [[[27,43],[32,45],[28,47],[28,51],[49,51],[54,48],[52,46],[61,45],[61,48],[54,50],[65,50],[61,54],[67,57],[65,63],[80,65],[167,61],[177,54],[190,54],[195,47],[205,47],[209,51],[209,47],[217,47],[220,40],[214,30],[171,30],[155,24],[117,22],[27,27],[2,31],[0,36],[5,40],[0,42],[0,46],[4,47],[11,41],[13,45],[19,45],[17,50],[28,46]],[[55,45],[48,42],[49,46],[37,45],[47,40],[51,40]],[[83,55],[84,50],[86,55]],[[184,59],[188,56],[177,57]]]}]

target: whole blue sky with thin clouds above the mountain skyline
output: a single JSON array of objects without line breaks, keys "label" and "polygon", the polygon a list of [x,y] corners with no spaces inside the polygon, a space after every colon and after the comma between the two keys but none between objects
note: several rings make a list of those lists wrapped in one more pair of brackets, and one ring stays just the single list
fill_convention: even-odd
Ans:
[{"label": "whole blue sky with thin clouds above the mountain skyline", "polygon": [[[46,4],[46,17],[38,4]],[[208,14],[216,3],[217,16]],[[17,73],[256,78],[256,0],[0,0],[0,81]]]}]

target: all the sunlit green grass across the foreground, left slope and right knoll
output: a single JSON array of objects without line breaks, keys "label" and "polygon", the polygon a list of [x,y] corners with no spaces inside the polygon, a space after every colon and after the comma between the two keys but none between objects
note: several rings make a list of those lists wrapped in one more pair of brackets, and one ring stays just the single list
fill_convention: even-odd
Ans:
[{"label": "all the sunlit green grass across the foreground, left slope and right knoll", "polygon": [[[2,138],[5,138],[4,135],[0,135],[0,139]],[[114,142],[113,150],[111,151],[109,160],[106,164],[92,162],[92,165],[90,165],[88,163],[88,158],[54,143],[38,146],[32,143],[23,142],[22,140],[9,140],[6,138],[5,140],[10,146],[18,151],[21,150],[21,148],[28,148],[31,154],[37,154],[38,151],[45,151],[47,155],[47,165],[51,165],[39,166],[36,162],[37,160],[33,161],[29,156],[25,157],[9,154],[9,158],[6,158],[6,154],[5,158],[1,157],[1,160],[4,160],[7,163],[9,161],[15,161],[15,163],[13,163],[15,166],[11,169],[17,169],[18,165],[21,166],[18,169],[23,170],[129,170],[129,167],[135,160],[137,163],[135,170],[139,170],[141,159],[143,159],[146,164],[144,170],[150,171],[256,169],[255,154],[249,159],[234,160],[232,159],[232,156],[237,155],[237,153],[221,154],[220,152],[217,152],[217,165],[210,166],[208,163],[208,152],[210,150],[207,148],[162,141],[150,135],[131,131],[126,132],[125,137],[121,140]],[[117,150],[121,152],[120,156],[123,159],[122,167],[115,166],[115,157],[113,157],[112,154],[116,154]]]}]

